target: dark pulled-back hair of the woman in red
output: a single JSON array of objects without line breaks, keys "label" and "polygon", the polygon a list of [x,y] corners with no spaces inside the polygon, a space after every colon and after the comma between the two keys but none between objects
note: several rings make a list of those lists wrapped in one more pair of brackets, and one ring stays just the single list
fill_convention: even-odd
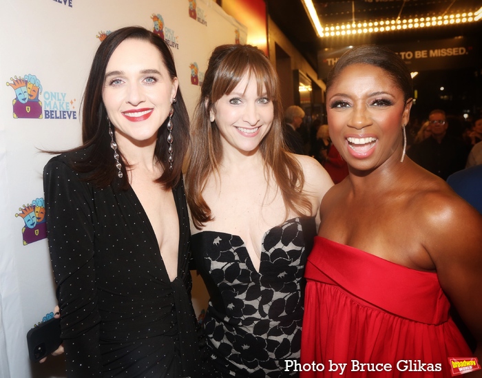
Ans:
[{"label": "dark pulled-back hair of the woman in red", "polygon": [[384,70],[404,92],[404,100],[413,97],[413,81],[403,59],[384,46],[361,45],[345,52],[335,63],[326,79],[326,92],[335,83],[339,74],[349,65],[368,64]]}]

